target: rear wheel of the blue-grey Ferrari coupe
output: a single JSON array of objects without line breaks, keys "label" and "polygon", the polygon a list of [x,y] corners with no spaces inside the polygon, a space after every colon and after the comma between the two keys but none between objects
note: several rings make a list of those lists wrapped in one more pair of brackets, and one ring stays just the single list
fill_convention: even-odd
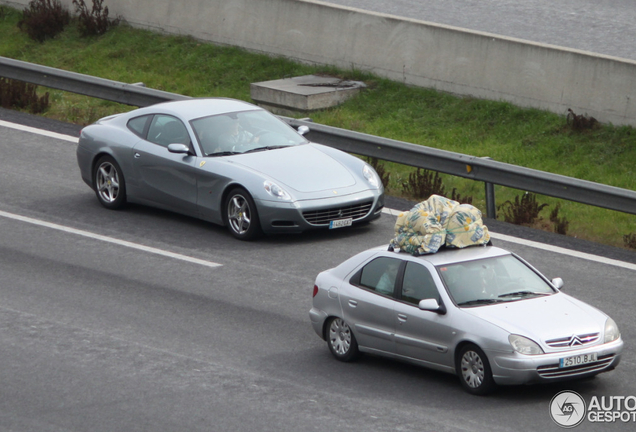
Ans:
[{"label": "rear wheel of the blue-grey Ferrari coupe", "polygon": [[126,204],[126,181],[121,168],[111,156],[102,156],[93,173],[95,194],[108,209],[119,209]]}]

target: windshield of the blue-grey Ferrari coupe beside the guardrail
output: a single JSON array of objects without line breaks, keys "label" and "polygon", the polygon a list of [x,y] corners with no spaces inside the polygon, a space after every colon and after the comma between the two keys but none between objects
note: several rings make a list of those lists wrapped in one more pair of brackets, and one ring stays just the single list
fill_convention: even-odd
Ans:
[{"label": "windshield of the blue-grey Ferrari coupe beside the guardrail", "polygon": [[206,156],[266,151],[307,142],[286,123],[264,110],[202,117],[190,124]]}]

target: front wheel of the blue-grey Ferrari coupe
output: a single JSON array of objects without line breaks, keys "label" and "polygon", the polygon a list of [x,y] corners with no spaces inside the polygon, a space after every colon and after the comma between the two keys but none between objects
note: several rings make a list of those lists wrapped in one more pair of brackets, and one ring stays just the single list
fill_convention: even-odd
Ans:
[{"label": "front wheel of the blue-grey Ferrari coupe", "polygon": [[239,240],[252,240],[261,234],[256,204],[245,189],[230,191],[225,200],[225,222]]}]

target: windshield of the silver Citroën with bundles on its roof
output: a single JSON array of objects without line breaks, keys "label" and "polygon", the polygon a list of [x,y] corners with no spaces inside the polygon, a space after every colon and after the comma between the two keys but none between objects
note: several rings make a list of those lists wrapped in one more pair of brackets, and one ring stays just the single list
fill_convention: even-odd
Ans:
[{"label": "windshield of the silver Citro\u00ebn with bundles on its roof", "polygon": [[482,306],[555,293],[548,282],[513,255],[447,264],[437,270],[458,306]]}]

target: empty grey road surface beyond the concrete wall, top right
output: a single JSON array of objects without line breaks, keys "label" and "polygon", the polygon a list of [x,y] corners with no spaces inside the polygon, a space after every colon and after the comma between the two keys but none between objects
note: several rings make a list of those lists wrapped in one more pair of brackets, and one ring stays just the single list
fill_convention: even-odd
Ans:
[{"label": "empty grey road surface beyond the concrete wall, top right", "polygon": [[633,0],[329,0],[329,3],[636,60]]}]

